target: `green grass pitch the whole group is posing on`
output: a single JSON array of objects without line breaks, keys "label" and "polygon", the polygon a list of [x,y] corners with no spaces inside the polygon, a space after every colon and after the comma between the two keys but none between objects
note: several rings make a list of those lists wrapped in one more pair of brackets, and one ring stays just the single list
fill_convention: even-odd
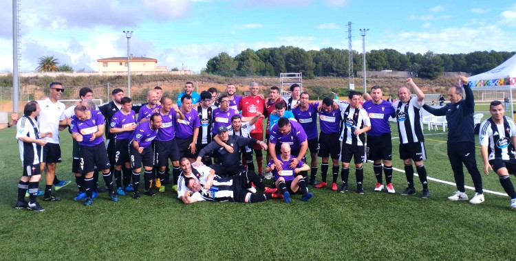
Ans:
[{"label": "green grass pitch the whole group is posing on", "polygon": [[[397,194],[375,193],[372,163],[365,164],[364,195],[356,194],[350,182],[345,194],[310,188],[314,198],[306,203],[296,195],[290,205],[276,200],[183,205],[167,188],[153,198],[122,196],[118,203],[104,193],[92,207],[83,207],[73,201],[76,188],[69,185],[56,193],[63,201],[41,201],[45,212],[16,210],[21,164],[14,132],[0,132],[5,146],[0,156],[1,260],[514,260],[516,254],[510,245],[515,212],[507,196],[486,193],[480,205],[451,202],[447,196],[455,187],[435,181],[429,181],[429,199],[400,196],[406,179],[396,171]],[[396,137],[395,126],[393,133]],[[446,133],[425,133],[429,177],[453,182]],[[70,140],[61,133],[61,179],[73,179]],[[394,167],[402,169],[396,138],[393,147]],[[503,192],[494,173],[483,175],[483,181],[484,189]],[[469,174],[466,185],[472,185]]]}]

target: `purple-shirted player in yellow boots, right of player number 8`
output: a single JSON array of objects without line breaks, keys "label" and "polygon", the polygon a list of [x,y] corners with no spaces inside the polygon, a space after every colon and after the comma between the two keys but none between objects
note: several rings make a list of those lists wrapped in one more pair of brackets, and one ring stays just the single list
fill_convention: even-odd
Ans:
[{"label": "purple-shirted player in yellow boots, right of player number 8", "polygon": [[[190,95],[185,94],[182,96],[182,100],[188,100]],[[191,101],[191,99],[189,99]],[[164,192],[165,187],[164,183],[162,185],[162,182],[164,182],[165,179],[165,171],[166,167],[169,166],[169,159],[172,161],[172,177],[173,177],[173,184],[176,185],[178,183],[178,177],[180,173],[179,169],[179,149],[177,144],[177,139],[175,139],[175,121],[176,120],[184,120],[184,114],[180,111],[178,106],[175,106],[175,104],[172,104],[171,98],[168,96],[164,96],[161,98],[161,104],[162,107],[160,109],[160,117],[162,119],[161,125],[160,125],[160,131],[158,131],[158,134],[155,136],[154,140],[154,150],[155,150],[155,165],[158,168],[158,174],[155,179],[155,187],[158,188],[159,192]],[[182,104],[181,106],[184,106]],[[152,150],[152,149],[151,149]],[[147,165],[145,168],[147,168]],[[152,174],[151,174],[152,176]],[[149,174],[147,174],[147,170],[145,170],[145,182],[147,182],[147,179],[149,178]],[[145,185],[146,194],[153,194],[152,190],[147,189],[149,188],[147,186],[147,183]],[[150,195],[153,196],[153,195]]]}]

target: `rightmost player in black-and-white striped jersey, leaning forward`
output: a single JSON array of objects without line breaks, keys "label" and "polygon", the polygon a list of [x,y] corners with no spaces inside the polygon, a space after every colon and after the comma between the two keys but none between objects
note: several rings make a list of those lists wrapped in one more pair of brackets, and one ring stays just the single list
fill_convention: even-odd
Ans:
[{"label": "rightmost player in black-and-white striped jersey, leaning forward", "polygon": [[[510,197],[510,208],[516,209],[516,192],[509,174],[516,174],[516,125],[505,117],[502,102],[495,100],[489,104],[491,117],[480,125],[480,152],[484,161],[484,172],[494,170],[502,188]],[[467,196],[466,196],[467,199]]]}]

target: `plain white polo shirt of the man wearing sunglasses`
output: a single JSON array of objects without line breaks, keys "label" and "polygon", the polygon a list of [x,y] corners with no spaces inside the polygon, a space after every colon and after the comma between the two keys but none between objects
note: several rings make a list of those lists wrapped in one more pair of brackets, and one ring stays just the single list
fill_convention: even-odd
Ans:
[{"label": "plain white polo shirt of the man wearing sunglasses", "polygon": [[52,137],[44,137],[43,139],[53,144],[59,144],[59,120],[65,111],[65,104],[59,101],[53,103],[50,98],[39,100],[38,103],[41,109],[38,116],[39,131],[41,133],[52,133]]}]

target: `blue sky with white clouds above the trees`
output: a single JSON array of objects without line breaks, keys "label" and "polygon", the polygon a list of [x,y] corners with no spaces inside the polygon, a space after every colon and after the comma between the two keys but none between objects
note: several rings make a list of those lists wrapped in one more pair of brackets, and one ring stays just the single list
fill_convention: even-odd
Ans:
[{"label": "blue sky with white clouds above the trees", "polygon": [[[0,71],[12,71],[12,1],[1,0]],[[21,71],[41,56],[98,71],[98,58],[131,54],[201,71],[221,52],[292,45],[305,50],[458,54],[516,50],[516,3],[502,0],[19,0]]]}]

